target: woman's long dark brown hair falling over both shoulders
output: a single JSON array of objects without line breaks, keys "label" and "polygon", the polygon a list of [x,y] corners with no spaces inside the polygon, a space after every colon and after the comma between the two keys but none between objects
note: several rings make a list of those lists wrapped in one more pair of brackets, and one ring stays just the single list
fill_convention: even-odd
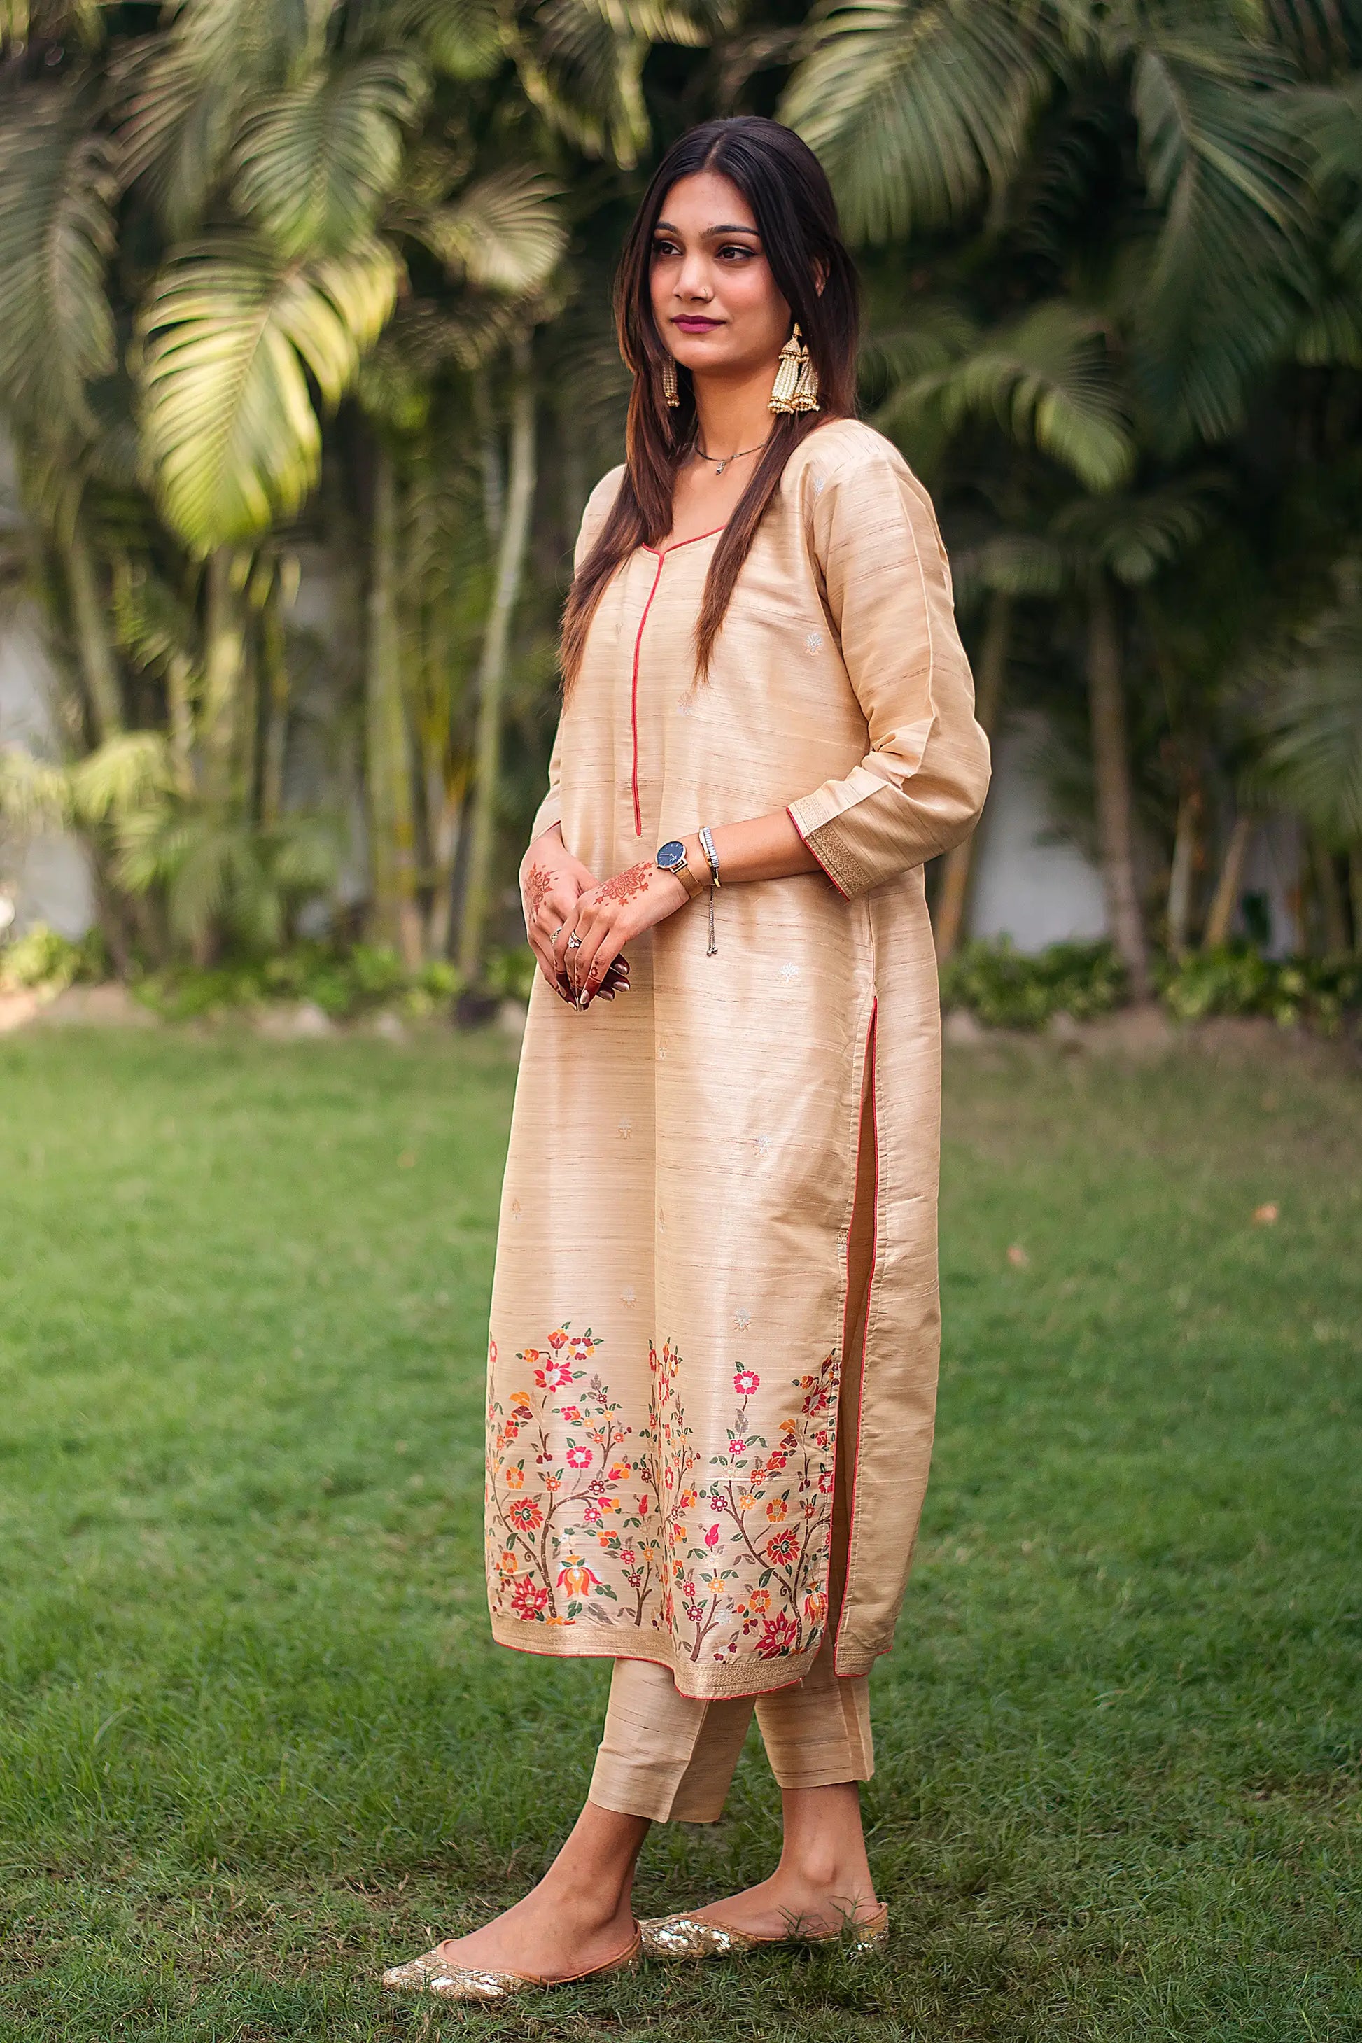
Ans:
[{"label": "woman's long dark brown hair falling over both shoulders", "polygon": [[[668,349],[653,325],[649,266],[653,229],[674,184],[715,170],[743,194],[758,223],[762,249],[780,296],[798,321],[819,376],[819,413],[778,415],[766,452],[715,548],[696,625],[696,674],[704,678],[739,570],[762,515],[776,494],[784,464],[819,419],[856,411],[856,268],[841,241],[837,204],[813,149],[778,121],[741,114],[704,121],[672,143],[653,174],[629,229],[615,278],[615,327],[625,366],[633,370],[625,480],[611,513],[578,568],[564,611],[562,668],[570,691],[582,666],[586,631],[604,584],[639,545],[658,545],[672,529],[676,470],[696,437],[690,372],[676,364],[680,405],[662,400]],[[821,282],[821,290],[819,290]]]}]

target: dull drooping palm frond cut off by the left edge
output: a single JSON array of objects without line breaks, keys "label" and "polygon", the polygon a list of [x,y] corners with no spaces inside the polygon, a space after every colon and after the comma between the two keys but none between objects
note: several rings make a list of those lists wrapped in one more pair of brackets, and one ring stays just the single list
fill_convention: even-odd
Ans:
[{"label": "dull drooping palm frond cut off by the left edge", "polygon": [[0,125],[0,392],[45,429],[94,431],[86,384],[114,368],[104,270],[114,245],[108,143],[82,100],[35,92]]}]

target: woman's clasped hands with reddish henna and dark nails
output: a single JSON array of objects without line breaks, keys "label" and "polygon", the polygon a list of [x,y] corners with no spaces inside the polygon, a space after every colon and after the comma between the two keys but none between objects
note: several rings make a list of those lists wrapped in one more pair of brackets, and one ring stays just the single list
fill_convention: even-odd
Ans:
[{"label": "woman's clasped hands with reddish henna and dark nails", "polygon": [[629,991],[625,944],[686,905],[686,889],[651,858],[596,885],[564,846],[557,823],[535,838],[521,866],[525,934],[560,999],[586,1009]]}]

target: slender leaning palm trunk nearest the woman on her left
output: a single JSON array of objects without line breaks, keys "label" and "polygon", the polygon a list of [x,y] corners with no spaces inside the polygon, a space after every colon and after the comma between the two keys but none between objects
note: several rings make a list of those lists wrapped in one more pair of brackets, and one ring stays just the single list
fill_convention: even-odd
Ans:
[{"label": "slender leaning palm trunk nearest the woman on her left", "polygon": [[482,938],[488,919],[488,889],[492,881],[492,836],[496,825],[496,791],[500,778],[502,693],[506,686],[506,650],[510,617],[525,572],[529,517],[535,501],[535,386],[529,335],[513,345],[510,396],[510,474],[502,513],[500,545],[496,550],[496,586],[482,642],[478,668],[478,752],[472,803],[472,836],[468,852],[468,889],[464,895],[464,925],[459,930],[459,970],[472,987],[482,970]]}]

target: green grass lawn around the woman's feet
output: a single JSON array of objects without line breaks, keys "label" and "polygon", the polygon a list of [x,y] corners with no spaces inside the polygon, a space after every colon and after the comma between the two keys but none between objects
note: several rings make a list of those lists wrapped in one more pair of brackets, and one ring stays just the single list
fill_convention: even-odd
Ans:
[{"label": "green grass lawn around the woman's feet", "polygon": [[[4,2043],[1356,2043],[1362,1083],[1284,1052],[952,1062],[888,1957],[382,1994],[535,1878],[609,1675],[486,1636],[510,1085],[492,1040],[0,1044]],[[639,1902],[776,1839],[753,1749]]]}]

